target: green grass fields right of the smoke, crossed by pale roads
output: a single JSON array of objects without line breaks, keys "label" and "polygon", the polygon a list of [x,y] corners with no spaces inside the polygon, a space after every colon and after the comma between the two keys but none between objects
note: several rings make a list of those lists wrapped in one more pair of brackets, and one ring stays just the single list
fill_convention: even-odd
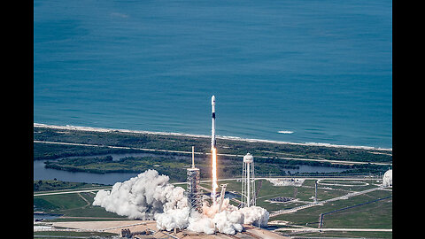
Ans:
[{"label": "green grass fields right of the smoke, crossed by pale roads", "polygon": [[[264,207],[268,212],[274,212],[281,209],[290,209],[299,205],[308,204],[313,202],[314,196],[314,181],[305,180],[303,185],[300,187],[295,186],[274,186],[267,180],[262,181],[261,189],[259,190],[259,196],[257,198],[257,205]],[[257,181],[257,189],[259,187],[259,181]],[[375,180],[363,180],[363,181],[346,181],[346,180],[323,180],[321,182],[336,183],[340,186],[332,185],[321,185],[317,190],[318,200],[326,200],[335,197],[344,196],[350,192],[363,191],[366,189],[376,188],[373,185]],[[229,191],[241,191],[241,182],[238,181],[220,181],[221,183],[228,183]],[[368,183],[368,185],[366,185]],[[209,188],[211,183],[201,183],[203,186]],[[341,186],[341,185],[356,185],[356,186]],[[366,185],[366,186],[359,186]],[[387,190],[375,190],[367,194],[362,194],[355,197],[350,197],[347,200],[337,200],[328,204],[313,206],[305,208],[298,212],[292,212],[282,214],[271,218],[273,220],[285,220],[289,221],[290,224],[287,227],[294,226],[305,226],[317,227],[319,222],[319,216],[321,213],[331,212],[337,209],[342,209],[347,206],[356,204],[363,204],[375,199],[389,197],[392,195],[391,191]],[[299,201],[290,201],[287,203],[270,203],[270,198],[273,197],[292,197],[297,198]],[[327,214],[324,217],[325,228],[392,228],[392,198],[384,199],[382,201],[374,202],[371,204],[364,204],[358,207],[347,209],[341,212],[334,212]],[[289,234],[289,232],[282,232],[282,235]],[[323,232],[316,234],[297,234],[298,236],[373,236],[374,238],[390,238],[392,233],[390,232]]]}]

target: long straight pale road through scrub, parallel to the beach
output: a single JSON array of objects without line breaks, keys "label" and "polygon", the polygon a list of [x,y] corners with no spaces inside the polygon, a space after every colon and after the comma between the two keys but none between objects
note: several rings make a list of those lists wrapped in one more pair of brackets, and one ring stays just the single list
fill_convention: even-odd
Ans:
[{"label": "long straight pale road through scrub, parallel to the beach", "polygon": [[[100,144],[89,144],[89,143],[63,143],[63,142],[49,142],[49,141],[38,141],[35,140],[34,143],[52,143],[52,144],[64,144],[64,145],[75,145],[75,146],[87,146],[87,147],[107,147],[110,149],[125,149],[125,150],[143,150],[143,151],[158,151],[158,152],[172,152],[172,153],[185,153],[191,154],[192,151],[179,151],[179,150],[153,150],[153,149],[144,149],[144,148],[134,148],[134,147],[124,147],[124,146],[110,146],[110,145],[100,145]],[[195,154],[204,154],[204,152],[195,152]],[[205,153],[210,155],[211,153]],[[243,158],[244,155],[238,154],[224,154],[218,153],[219,156],[229,156],[229,157],[238,157]],[[271,158],[267,156],[255,156],[256,158]],[[288,157],[275,157],[279,159],[287,160],[300,160],[300,161],[317,161],[317,162],[328,162],[335,164],[348,164],[348,165],[379,165],[379,166],[391,166],[392,163],[376,163],[376,162],[359,162],[359,161],[345,161],[345,160],[330,160],[330,159],[318,159],[318,158],[288,158]]]}]

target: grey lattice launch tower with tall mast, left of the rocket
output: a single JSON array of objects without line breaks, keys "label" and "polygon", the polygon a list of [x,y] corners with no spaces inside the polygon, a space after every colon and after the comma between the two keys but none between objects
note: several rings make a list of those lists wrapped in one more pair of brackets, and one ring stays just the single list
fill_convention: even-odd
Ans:
[{"label": "grey lattice launch tower with tall mast, left of the rocket", "polygon": [[187,169],[188,173],[188,188],[186,195],[190,209],[194,208],[197,212],[202,212],[202,191],[199,189],[200,172],[199,168],[195,167],[195,151],[192,146],[192,167]]}]

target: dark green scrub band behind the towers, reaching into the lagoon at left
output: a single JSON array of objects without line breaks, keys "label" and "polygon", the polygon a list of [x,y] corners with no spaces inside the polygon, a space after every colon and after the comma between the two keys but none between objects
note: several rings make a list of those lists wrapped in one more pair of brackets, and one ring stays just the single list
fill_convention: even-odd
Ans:
[{"label": "dark green scrub band behind the towers, reaching into the lagoon at left", "polygon": [[[37,148],[39,143],[35,144]],[[47,148],[43,148],[44,150]],[[201,156],[196,158],[195,163],[201,170],[201,177],[204,179],[211,178],[211,166],[209,156]],[[220,178],[232,178],[239,176],[242,172],[242,158],[235,157],[218,157],[218,174]],[[186,168],[191,164],[189,156],[171,156],[164,154],[151,154],[150,156],[126,157],[120,160],[112,160],[110,155],[84,158],[62,158],[55,161],[46,161],[45,167],[58,170],[66,170],[71,172],[88,172],[88,173],[142,173],[148,169],[155,169],[158,173],[166,174],[171,181],[185,181]],[[290,175],[289,170],[298,169],[298,165],[308,166],[331,166],[329,163],[314,161],[299,161],[280,158],[256,158],[256,174],[258,176],[285,176]],[[338,166],[338,165],[332,165]],[[368,166],[368,167],[367,167]],[[364,168],[363,173],[382,173],[388,169],[387,166],[338,166],[345,167],[346,171],[342,173],[326,173],[344,175],[345,173],[359,173],[359,168]],[[312,173],[296,173],[297,175],[305,175]],[[313,173],[317,174],[317,173]],[[319,173],[319,175],[325,173]]]}]

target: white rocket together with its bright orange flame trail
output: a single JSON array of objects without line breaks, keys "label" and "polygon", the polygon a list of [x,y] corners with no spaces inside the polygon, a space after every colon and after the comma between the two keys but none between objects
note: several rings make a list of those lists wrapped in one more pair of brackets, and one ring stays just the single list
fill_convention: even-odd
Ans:
[{"label": "white rocket together with its bright orange flame trail", "polygon": [[212,175],[213,175],[213,184],[211,199],[213,204],[216,204],[217,189],[219,185],[217,184],[217,149],[215,148],[215,96],[211,97],[211,110],[212,110],[212,127],[211,127],[211,155],[212,155]]}]

